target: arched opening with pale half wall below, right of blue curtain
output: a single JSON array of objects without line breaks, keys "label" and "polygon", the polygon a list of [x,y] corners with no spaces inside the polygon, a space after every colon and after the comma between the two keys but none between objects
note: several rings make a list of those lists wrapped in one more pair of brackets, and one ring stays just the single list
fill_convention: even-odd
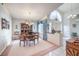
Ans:
[{"label": "arched opening with pale half wall below, right of blue curtain", "polygon": [[62,17],[57,10],[49,14],[48,24],[48,41],[61,45]]}]

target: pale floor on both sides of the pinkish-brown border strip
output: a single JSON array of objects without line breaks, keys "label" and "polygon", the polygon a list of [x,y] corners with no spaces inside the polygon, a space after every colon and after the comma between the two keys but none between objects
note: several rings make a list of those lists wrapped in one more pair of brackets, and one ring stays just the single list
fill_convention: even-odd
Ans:
[{"label": "pale floor on both sides of the pinkish-brown border strip", "polygon": [[[13,46],[8,54],[8,56],[28,56],[33,55],[33,53],[37,53],[40,50],[47,49],[51,46],[55,47],[55,45],[52,45],[50,43],[47,43],[40,39],[40,43],[36,46],[26,46],[26,47],[19,47],[19,41],[16,40],[13,43]],[[63,43],[64,46],[61,46],[59,48],[55,48],[51,52],[45,54],[44,56],[65,56],[65,41]],[[31,53],[32,52],[32,53]]]}]

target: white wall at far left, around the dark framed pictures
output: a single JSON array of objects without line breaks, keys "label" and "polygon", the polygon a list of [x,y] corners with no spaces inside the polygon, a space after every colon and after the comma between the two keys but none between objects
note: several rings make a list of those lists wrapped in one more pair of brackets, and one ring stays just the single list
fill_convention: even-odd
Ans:
[{"label": "white wall at far left, around the dark framed pictures", "polygon": [[[5,18],[10,23],[10,29],[1,28],[1,18]],[[0,54],[6,48],[7,45],[10,44],[12,39],[12,22],[11,17],[7,9],[0,5]]]}]

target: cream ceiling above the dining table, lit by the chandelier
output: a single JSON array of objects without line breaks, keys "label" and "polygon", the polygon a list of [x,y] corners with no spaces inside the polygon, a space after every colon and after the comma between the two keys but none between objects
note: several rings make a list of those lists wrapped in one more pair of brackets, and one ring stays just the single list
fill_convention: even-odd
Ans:
[{"label": "cream ceiling above the dining table, lit by the chandelier", "polygon": [[41,20],[57,9],[61,3],[9,3],[4,6],[12,18],[24,20]]}]

